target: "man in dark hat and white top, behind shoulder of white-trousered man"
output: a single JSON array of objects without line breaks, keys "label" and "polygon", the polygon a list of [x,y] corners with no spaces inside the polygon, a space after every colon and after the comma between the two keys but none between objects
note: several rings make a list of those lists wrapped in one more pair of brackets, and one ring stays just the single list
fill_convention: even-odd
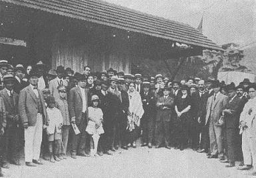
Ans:
[{"label": "man in dark hat and white top, behind shoulder of white-trousered man", "polygon": [[47,79],[47,65],[43,64],[43,62],[39,61],[35,66],[35,70],[38,73],[38,82],[37,87],[38,89],[45,89],[49,88],[49,81]]}]

